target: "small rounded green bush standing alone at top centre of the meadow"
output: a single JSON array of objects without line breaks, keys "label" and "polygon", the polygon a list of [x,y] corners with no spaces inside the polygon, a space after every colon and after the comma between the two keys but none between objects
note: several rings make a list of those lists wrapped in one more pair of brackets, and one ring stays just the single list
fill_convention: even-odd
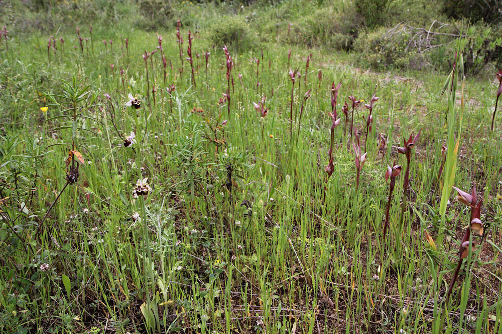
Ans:
[{"label": "small rounded green bush standing alone at top centre of the meadow", "polygon": [[240,16],[224,16],[209,28],[209,40],[217,47],[232,46],[238,50],[250,49],[257,37]]}]

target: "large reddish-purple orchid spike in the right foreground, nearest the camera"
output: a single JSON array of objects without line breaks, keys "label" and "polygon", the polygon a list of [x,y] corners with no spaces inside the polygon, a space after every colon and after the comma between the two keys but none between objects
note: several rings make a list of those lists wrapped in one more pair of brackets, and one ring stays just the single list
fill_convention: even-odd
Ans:
[{"label": "large reddish-purple orchid spike in the right foreground, nearest the camera", "polygon": [[464,236],[460,241],[460,246],[458,250],[458,262],[455,272],[450,279],[450,284],[448,285],[448,291],[446,292],[445,303],[448,303],[453,287],[455,286],[455,282],[458,277],[458,273],[460,271],[460,267],[462,266],[463,259],[469,255],[469,248],[474,250],[474,246],[476,242],[472,241],[471,233],[472,231],[476,231],[480,236],[483,235],[483,224],[480,219],[480,210],[482,200],[477,201],[476,197],[476,186],[472,186],[471,194],[458,189],[457,187],[453,187],[458,193],[456,199],[470,208],[470,223],[469,227],[465,229]]}]

